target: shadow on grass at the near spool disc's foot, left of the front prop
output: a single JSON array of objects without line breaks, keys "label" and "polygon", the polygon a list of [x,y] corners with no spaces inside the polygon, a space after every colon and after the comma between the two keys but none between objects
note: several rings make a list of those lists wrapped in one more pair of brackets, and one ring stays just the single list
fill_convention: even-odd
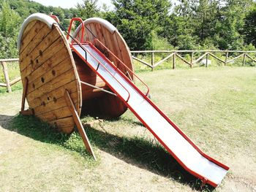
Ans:
[{"label": "shadow on grass at the near spool disc's foot, left of the front prop", "polygon": [[83,146],[83,142],[81,142],[77,132],[71,135],[63,134],[34,116],[23,115],[0,115],[0,126],[40,142],[64,147],[67,150],[78,153],[86,161],[93,161],[93,158]]}]

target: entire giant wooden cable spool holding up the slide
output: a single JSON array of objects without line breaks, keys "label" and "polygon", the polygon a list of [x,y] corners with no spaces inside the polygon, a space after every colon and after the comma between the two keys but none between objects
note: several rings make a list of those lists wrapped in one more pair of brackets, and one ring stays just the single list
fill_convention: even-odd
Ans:
[{"label": "entire giant wooden cable spool holding up the slide", "polygon": [[[99,18],[85,20],[84,23],[86,41],[94,43],[94,38],[97,37],[133,71],[129,48],[115,27]],[[78,39],[79,33],[80,27],[74,34]],[[26,90],[23,97],[27,99],[35,116],[59,131],[69,134],[75,126],[74,114],[69,110],[67,97],[65,99],[66,92],[69,93],[78,116],[81,112],[97,112],[108,117],[118,117],[127,110],[118,97],[81,85],[80,81],[83,81],[110,91],[105,82],[72,52],[63,31],[50,16],[37,13],[24,21],[18,49],[20,76]],[[122,72],[127,72],[116,58],[108,53],[105,55]],[[132,74],[129,76],[132,78]]]}]

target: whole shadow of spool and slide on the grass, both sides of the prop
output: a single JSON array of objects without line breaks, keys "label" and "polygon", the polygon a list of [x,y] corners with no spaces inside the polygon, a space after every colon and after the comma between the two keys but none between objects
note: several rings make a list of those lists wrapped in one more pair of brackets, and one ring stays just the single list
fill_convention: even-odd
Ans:
[{"label": "whole shadow of spool and slide on the grass, both sides of the prop", "polygon": [[[0,115],[0,126],[40,142],[60,145],[69,150],[76,151],[85,158],[91,158],[89,154],[86,153],[78,131],[75,131],[71,135],[61,134],[54,131],[47,123],[43,123],[33,116],[22,115],[16,115],[14,117]],[[116,156],[116,158],[122,161],[126,161],[128,164],[176,180],[178,183],[187,184],[195,190],[214,190],[210,185],[205,185],[203,189],[200,188],[201,181],[186,172],[181,165],[179,165],[162,146],[154,142],[154,140],[140,137],[118,137],[106,131],[99,131],[91,127],[85,127],[85,129],[93,146]]]}]

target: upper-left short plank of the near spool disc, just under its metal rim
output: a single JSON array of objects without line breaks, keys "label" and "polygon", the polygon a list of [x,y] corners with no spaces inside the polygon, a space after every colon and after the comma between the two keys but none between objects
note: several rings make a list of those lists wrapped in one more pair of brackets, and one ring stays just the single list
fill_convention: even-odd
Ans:
[{"label": "upper-left short plank of the near spool disc, just under its metal rim", "polygon": [[23,50],[29,45],[31,42],[31,39],[33,39],[39,31],[44,27],[47,26],[45,23],[37,20],[37,22],[32,26],[26,36],[22,36],[21,42],[20,42],[20,53],[23,53]]}]

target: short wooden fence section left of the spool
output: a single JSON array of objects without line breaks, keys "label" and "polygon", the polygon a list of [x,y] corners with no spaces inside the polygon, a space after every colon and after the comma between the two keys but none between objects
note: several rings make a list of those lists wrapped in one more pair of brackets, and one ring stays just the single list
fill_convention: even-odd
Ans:
[{"label": "short wooden fence section left of the spool", "polygon": [[14,80],[10,80],[9,74],[8,74],[8,63],[19,61],[18,58],[10,58],[10,59],[0,59],[0,64],[3,67],[4,72],[4,80],[5,83],[0,82],[0,87],[6,87],[8,93],[12,93],[12,85],[14,85],[16,82],[20,81],[20,77],[15,78]]}]

